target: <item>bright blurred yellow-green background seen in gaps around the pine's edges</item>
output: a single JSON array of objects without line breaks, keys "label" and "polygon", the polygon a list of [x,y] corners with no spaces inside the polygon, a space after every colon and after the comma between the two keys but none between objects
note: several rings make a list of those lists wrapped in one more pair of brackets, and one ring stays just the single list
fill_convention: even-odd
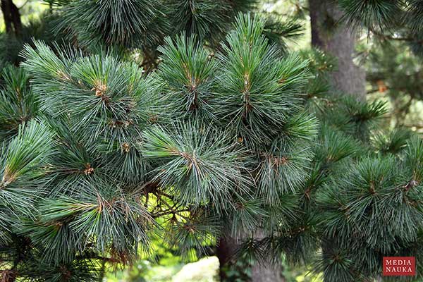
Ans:
[{"label": "bright blurred yellow-green background seen in gaps around the pine's edges", "polygon": [[[17,39],[5,32],[0,20],[0,69],[7,62],[19,63],[19,51],[32,38],[51,42],[52,22],[49,5],[37,0],[16,0],[23,23],[22,36]],[[262,0],[259,9],[274,17],[295,20],[300,23],[298,36],[286,42],[288,49],[309,49],[311,44],[310,20],[305,0]],[[1,13],[1,12],[0,12]],[[277,28],[277,27],[275,27]],[[10,38],[6,38],[10,37]],[[56,38],[57,39],[57,38]],[[66,39],[62,39],[66,40]],[[382,99],[387,102],[390,114],[386,123],[391,128],[404,125],[412,131],[423,132],[423,51],[403,41],[386,40],[377,36],[369,37],[363,32],[357,44],[356,61],[364,66],[367,75],[367,99]],[[137,52],[133,59],[137,60]],[[165,247],[160,236],[153,241],[155,259],[141,258],[132,266],[118,266],[110,269],[106,281],[118,282],[212,282],[218,281],[219,261],[216,257],[192,257],[183,259],[176,248]],[[240,259],[237,268],[228,269],[228,277],[234,282],[244,281],[249,262]],[[110,266],[111,268],[112,266]],[[113,267],[116,267],[114,265]],[[306,266],[291,268],[283,263],[286,282],[318,282],[319,275],[311,276]]]}]

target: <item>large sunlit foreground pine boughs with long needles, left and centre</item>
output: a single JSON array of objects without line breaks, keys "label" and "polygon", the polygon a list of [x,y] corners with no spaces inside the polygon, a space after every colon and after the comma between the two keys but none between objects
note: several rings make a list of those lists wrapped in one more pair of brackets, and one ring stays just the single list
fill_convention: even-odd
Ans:
[{"label": "large sunlit foreground pine boughs with long needles, left and centre", "polygon": [[[149,252],[159,219],[186,255],[223,222],[234,236],[268,216],[269,230],[288,228],[294,215],[278,207],[295,207],[317,122],[299,96],[307,63],[280,59],[263,30],[238,17],[215,56],[195,37],[166,39],[151,75],[106,53],[25,47],[16,79],[32,78],[23,99],[39,104],[31,121],[5,117],[5,279],[92,281],[99,261]],[[5,95],[20,93],[7,82]],[[7,102],[29,110],[21,101]]]}]

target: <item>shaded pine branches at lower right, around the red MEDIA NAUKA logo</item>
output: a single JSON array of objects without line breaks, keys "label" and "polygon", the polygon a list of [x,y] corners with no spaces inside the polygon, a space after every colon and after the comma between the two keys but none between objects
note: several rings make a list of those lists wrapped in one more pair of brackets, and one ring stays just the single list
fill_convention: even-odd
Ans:
[{"label": "shaded pine branches at lower right, around the red MEDIA NAUKA logo", "polygon": [[305,186],[305,210],[317,214],[321,244],[314,271],[324,281],[372,281],[381,276],[384,256],[419,259],[422,140],[404,129],[381,129],[381,102],[325,95],[330,78],[320,70],[333,62],[320,52],[307,56],[315,73],[309,105],[323,121]]}]

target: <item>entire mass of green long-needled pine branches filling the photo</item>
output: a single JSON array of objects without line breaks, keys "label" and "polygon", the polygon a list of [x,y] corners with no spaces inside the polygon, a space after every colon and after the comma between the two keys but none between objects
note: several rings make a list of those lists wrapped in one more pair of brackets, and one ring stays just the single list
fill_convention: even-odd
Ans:
[{"label": "entire mass of green long-needled pine branches filling the photo", "polygon": [[[396,8],[419,15],[393,2],[339,8],[386,37]],[[299,25],[247,13],[231,30],[253,3],[51,1],[77,47],[35,41],[2,74],[2,281],[100,281],[157,236],[191,258],[228,244],[243,281],[281,254],[325,282],[421,264],[422,139],[333,91],[330,55],[290,54]]]}]

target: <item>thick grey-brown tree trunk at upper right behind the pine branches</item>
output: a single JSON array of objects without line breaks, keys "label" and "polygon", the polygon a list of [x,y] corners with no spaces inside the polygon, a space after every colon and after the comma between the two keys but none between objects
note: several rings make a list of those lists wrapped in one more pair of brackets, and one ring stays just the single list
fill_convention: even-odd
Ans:
[{"label": "thick grey-brown tree trunk at upper right behind the pine branches", "polygon": [[366,99],[365,72],[353,62],[357,32],[340,19],[342,12],[332,0],[309,0],[312,46],[338,59],[338,69],[331,73],[334,90]]}]

